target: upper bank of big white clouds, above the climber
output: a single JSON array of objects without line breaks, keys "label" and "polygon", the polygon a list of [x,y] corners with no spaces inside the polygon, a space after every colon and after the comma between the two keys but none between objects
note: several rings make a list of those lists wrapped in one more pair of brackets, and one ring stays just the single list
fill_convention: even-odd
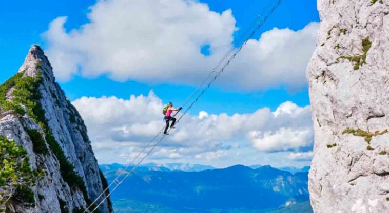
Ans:
[{"label": "upper bank of big white clouds, above the climber", "polygon": [[[64,28],[67,17],[57,17],[43,34],[61,81],[80,72],[118,81],[197,84],[238,30],[231,10],[217,13],[191,0],[98,1],[87,17],[88,23],[74,29]],[[303,86],[317,30],[318,23],[299,31],[275,28],[249,40],[218,83],[232,90]],[[209,56],[201,54],[204,45]]]}]

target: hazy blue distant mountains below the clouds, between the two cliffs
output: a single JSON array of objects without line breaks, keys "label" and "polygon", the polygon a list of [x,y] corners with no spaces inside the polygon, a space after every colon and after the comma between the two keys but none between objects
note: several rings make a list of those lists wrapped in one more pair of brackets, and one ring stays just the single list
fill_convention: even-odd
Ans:
[{"label": "hazy blue distant mountains below the clouds, between the two cliffs", "polygon": [[[120,164],[100,168],[108,181],[123,171]],[[112,199],[121,205],[131,200],[190,213],[213,212],[211,209],[275,209],[307,201],[307,180],[307,172],[291,174],[268,165],[256,169],[235,165],[183,172],[146,164],[123,182]],[[142,212],[142,207],[139,208]]]}]

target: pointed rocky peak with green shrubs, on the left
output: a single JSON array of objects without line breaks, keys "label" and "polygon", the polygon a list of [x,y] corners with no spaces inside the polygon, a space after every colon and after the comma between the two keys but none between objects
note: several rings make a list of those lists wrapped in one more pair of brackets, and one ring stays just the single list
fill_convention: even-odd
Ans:
[{"label": "pointed rocky peak with green shrubs, on the left", "polygon": [[[106,180],[40,47],[0,87],[0,103],[0,211],[83,212]],[[112,212],[109,199],[99,211]]]}]

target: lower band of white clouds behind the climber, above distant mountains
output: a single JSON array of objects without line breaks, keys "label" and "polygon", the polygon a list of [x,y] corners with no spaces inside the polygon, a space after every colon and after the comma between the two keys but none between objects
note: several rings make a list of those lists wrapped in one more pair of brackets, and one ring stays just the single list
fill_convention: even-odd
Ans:
[{"label": "lower band of white clouds behind the climber, above distant mountains", "polygon": [[[99,159],[131,159],[164,126],[162,101],[152,91],[129,99],[82,97],[72,103],[85,120]],[[312,145],[312,132],[309,106],[292,102],[282,103],[274,112],[268,108],[234,115],[202,111],[185,116],[151,159],[214,160],[237,153],[243,158],[247,152],[299,151]]]}]

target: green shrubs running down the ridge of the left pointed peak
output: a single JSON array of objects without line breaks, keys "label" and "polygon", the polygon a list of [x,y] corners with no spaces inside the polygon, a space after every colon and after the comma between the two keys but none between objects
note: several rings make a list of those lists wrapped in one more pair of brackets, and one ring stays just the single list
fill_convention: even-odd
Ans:
[{"label": "green shrubs running down the ridge of the left pointed peak", "polygon": [[[46,135],[45,140],[49,144],[50,150],[60,162],[60,172],[64,181],[68,183],[72,190],[79,188],[89,205],[91,201],[89,200],[84,180],[74,171],[73,165],[66,158],[59,143],[56,142],[55,137],[49,128],[47,119],[45,118],[45,112],[42,109],[40,102],[41,93],[39,91],[43,79],[41,70],[39,70],[40,66],[36,67],[36,77],[23,76],[24,72],[20,72],[0,86],[0,107],[5,110],[12,110],[17,115],[24,115],[27,113],[33,121],[42,127]],[[12,100],[10,101],[7,100],[7,93],[11,90]],[[22,105],[24,106],[24,109]],[[43,139],[38,138],[33,132],[30,132],[29,135],[33,140],[34,152],[44,153]]]}]

